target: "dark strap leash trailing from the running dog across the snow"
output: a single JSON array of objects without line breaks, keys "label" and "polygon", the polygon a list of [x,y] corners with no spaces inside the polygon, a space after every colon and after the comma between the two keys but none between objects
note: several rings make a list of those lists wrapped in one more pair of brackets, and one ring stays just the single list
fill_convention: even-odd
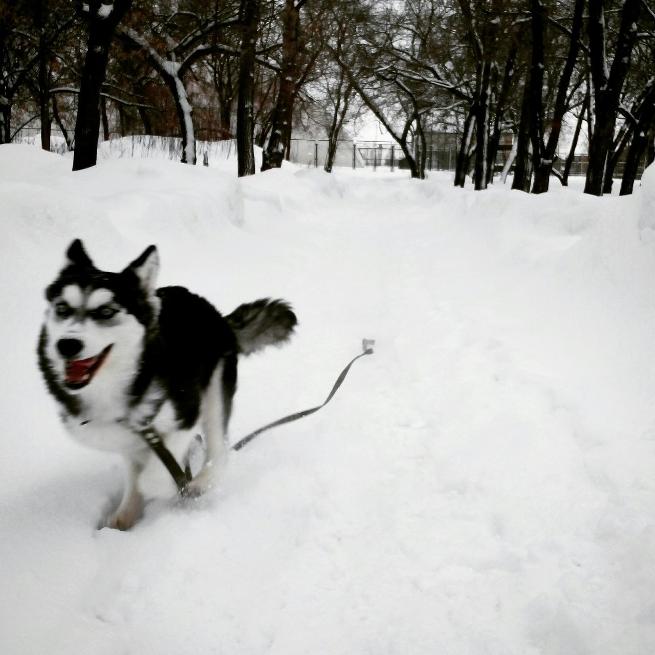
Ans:
[{"label": "dark strap leash trailing from the running dog across the snow", "polygon": [[[348,365],[346,365],[345,369],[343,369],[343,371],[339,373],[339,377],[337,377],[337,381],[334,383],[332,390],[329,392],[329,395],[327,396],[324,403],[322,403],[321,405],[317,405],[316,407],[311,407],[310,409],[303,409],[303,411],[295,412],[282,419],[273,421],[272,423],[269,423],[263,426],[262,428],[255,430],[254,432],[251,432],[241,440],[234,443],[234,445],[231,447],[231,450],[238,451],[242,449],[244,445],[250,443],[250,441],[252,441],[255,437],[259,436],[262,432],[266,432],[266,430],[271,430],[271,428],[276,428],[278,425],[284,425],[285,423],[290,423],[291,421],[297,421],[298,419],[302,419],[303,417],[309,416],[310,414],[313,414],[319,409],[325,407],[327,403],[329,403],[332,400],[334,394],[337,393],[337,390],[339,389],[343,381],[346,379],[346,375],[348,375],[348,371],[350,371],[350,367],[360,357],[373,354],[373,345],[375,345],[375,339],[362,339],[362,350],[364,352],[352,358],[352,360],[348,362]],[[157,431],[154,430],[153,428],[151,427],[145,428],[141,430],[139,434],[141,435],[143,440],[147,442],[147,444],[151,447],[151,449],[153,449],[155,455],[159,457],[162,464],[164,464],[164,466],[170,473],[171,477],[174,479],[176,485],[178,485],[178,491],[180,495],[185,496],[187,485],[189,484],[189,482],[191,482],[192,479],[191,469],[189,468],[189,466],[187,465],[185,470],[182,470],[176,458],[173,457],[170,450],[166,448],[166,445],[164,445],[164,441],[162,441],[162,438],[159,436],[159,434],[157,434]]]}]

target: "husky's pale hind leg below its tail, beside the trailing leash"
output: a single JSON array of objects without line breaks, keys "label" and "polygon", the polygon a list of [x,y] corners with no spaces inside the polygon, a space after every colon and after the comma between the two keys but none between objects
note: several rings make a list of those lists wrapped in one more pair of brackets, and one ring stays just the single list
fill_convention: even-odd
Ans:
[{"label": "husky's pale hind leg below its tail, beside the trailing leash", "polygon": [[206,389],[201,426],[204,433],[206,458],[204,466],[189,484],[191,495],[209,489],[215,476],[227,461],[227,424],[232,413],[236,390],[236,354],[229,355],[214,370]]}]

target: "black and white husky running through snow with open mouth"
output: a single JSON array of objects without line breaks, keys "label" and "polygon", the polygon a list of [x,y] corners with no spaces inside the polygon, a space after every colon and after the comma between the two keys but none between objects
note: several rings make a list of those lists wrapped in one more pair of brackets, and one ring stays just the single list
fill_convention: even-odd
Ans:
[{"label": "black and white husky running through snow with open mouth", "polygon": [[223,317],[185,288],[157,289],[155,246],[119,273],[98,270],[79,239],[66,256],[45,293],[39,366],[73,438],[124,457],[124,494],[104,525],[127,529],[143,510],[143,470],[164,471],[143,430],[178,460],[202,433],[206,459],[190,483],[202,493],[227,457],[238,354],[286,341],[296,318],[279,300]]}]

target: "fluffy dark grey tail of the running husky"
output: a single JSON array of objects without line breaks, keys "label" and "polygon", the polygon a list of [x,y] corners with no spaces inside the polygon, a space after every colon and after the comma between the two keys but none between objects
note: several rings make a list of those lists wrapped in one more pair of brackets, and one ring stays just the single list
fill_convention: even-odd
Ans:
[{"label": "fluffy dark grey tail of the running husky", "polygon": [[244,355],[265,346],[282,345],[298,322],[288,303],[270,298],[239,305],[225,320],[236,335],[239,352]]}]

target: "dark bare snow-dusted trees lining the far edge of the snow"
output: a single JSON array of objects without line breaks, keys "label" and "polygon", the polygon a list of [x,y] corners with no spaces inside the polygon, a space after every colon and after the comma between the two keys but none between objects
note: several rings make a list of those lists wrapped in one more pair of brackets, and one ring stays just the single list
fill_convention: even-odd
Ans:
[{"label": "dark bare snow-dusted trees lining the far edge of the snow", "polygon": [[493,183],[508,148],[513,188],[566,185],[586,136],[585,192],[631,193],[655,158],[652,0],[3,0],[0,143],[56,126],[73,170],[98,138],[236,138],[238,173],[288,158],[292,130],[328,140],[362,109],[422,179],[431,134],[453,134],[455,185]]}]

